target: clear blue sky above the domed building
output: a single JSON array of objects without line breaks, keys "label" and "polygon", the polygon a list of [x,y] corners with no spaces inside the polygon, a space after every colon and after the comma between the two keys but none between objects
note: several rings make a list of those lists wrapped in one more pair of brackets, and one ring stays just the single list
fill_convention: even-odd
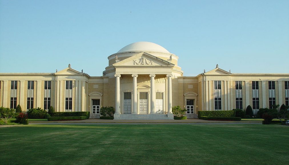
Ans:
[{"label": "clear blue sky above the domed building", "polygon": [[289,0],[0,0],[0,72],[68,67],[101,76],[137,41],[179,56],[184,76],[289,73]]}]

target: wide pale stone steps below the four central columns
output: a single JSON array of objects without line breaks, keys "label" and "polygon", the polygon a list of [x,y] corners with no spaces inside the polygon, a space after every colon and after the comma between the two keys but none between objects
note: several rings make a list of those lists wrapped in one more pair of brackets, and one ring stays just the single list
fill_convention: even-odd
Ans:
[{"label": "wide pale stone steps below the four central columns", "polygon": [[114,120],[173,120],[174,115],[169,114],[114,114]]}]

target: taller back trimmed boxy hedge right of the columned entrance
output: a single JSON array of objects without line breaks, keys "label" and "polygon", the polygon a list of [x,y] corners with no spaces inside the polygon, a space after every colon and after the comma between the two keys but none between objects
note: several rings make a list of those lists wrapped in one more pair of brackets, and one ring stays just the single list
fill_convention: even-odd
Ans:
[{"label": "taller back trimmed boxy hedge right of the columned entrance", "polygon": [[236,111],[198,111],[198,118],[201,119],[201,116],[207,117],[235,117]]}]

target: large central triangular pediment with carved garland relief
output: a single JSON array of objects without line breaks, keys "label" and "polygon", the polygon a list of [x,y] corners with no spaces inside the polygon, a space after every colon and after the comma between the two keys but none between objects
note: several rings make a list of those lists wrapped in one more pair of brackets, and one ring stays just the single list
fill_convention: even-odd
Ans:
[{"label": "large central triangular pediment with carved garland relief", "polygon": [[114,67],[122,66],[135,66],[135,67],[155,67],[155,66],[166,66],[173,67],[174,64],[163,60],[161,58],[155,57],[146,52],[141,52],[124,60],[118,61],[113,64]]}]

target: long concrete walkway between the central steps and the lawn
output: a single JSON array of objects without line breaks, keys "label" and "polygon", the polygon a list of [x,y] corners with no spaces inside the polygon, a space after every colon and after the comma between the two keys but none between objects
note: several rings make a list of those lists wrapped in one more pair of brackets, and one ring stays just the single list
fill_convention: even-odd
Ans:
[{"label": "long concrete walkway between the central steps and the lawn", "polygon": [[[103,120],[103,119],[86,119],[73,121],[29,121],[29,123],[247,123],[252,121],[210,121],[201,119],[187,120]],[[253,121],[254,122],[254,121]],[[261,121],[260,121],[261,122]],[[258,122],[257,122],[258,123]]]}]

